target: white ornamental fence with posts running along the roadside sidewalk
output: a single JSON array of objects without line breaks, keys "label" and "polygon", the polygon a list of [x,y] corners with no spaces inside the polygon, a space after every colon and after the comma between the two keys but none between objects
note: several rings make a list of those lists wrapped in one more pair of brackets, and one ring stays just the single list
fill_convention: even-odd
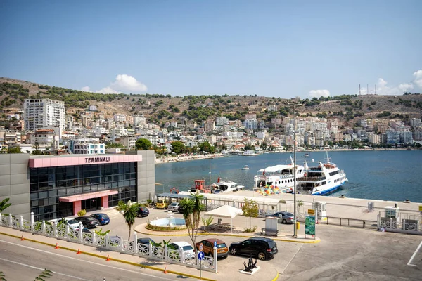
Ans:
[{"label": "white ornamental fence with posts running along the roadside sidewalk", "polygon": [[[202,267],[203,270],[217,273],[217,259],[212,256],[204,256],[203,260],[199,260],[198,256],[193,254],[186,254],[182,249],[174,250],[165,245],[164,247],[156,247],[153,244],[137,243],[137,233],[134,233],[133,241],[123,240],[122,237],[115,239],[116,236],[97,235],[93,233],[84,233],[82,223],[79,222],[79,229],[72,230],[69,226],[62,228],[56,223],[46,223],[45,221],[34,221],[34,213],[31,213],[31,220],[26,221],[23,216],[15,218],[12,214],[0,214],[0,226],[8,228],[15,228],[18,230],[27,231],[34,234],[45,235],[49,237],[56,237],[70,242],[79,244],[87,244],[98,248],[106,248],[110,251],[120,251],[125,254],[134,254],[146,259],[153,259],[156,261],[165,261],[168,263],[177,263],[183,266],[193,268]],[[214,247],[214,255],[217,256],[217,247]]]}]

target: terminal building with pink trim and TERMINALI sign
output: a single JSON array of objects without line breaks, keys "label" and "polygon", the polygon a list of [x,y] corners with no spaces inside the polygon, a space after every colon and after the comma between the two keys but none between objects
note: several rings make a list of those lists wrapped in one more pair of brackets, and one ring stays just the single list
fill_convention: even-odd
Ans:
[{"label": "terminal building with pink trim and TERMINALI sign", "polygon": [[35,221],[145,202],[155,193],[154,150],[101,155],[0,154],[0,202],[4,213]]}]

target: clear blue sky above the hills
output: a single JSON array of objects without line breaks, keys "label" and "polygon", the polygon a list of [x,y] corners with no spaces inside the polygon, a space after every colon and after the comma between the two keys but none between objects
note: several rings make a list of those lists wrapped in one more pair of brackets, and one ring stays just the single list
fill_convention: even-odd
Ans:
[{"label": "clear blue sky above the hills", "polygon": [[422,92],[422,1],[0,1],[0,76],[87,91]]}]

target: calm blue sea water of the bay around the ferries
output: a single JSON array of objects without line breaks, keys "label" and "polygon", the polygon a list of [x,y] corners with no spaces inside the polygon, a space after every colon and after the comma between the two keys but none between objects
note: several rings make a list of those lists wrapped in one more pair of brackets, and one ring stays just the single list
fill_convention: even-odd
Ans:
[{"label": "calm blue sea water of the bay around the ferries", "polygon": [[[172,187],[188,190],[196,179],[205,179],[208,184],[210,171],[212,183],[221,177],[251,189],[259,169],[290,163],[290,155],[293,157],[290,152],[283,152],[155,164],[155,182],[163,184],[155,189],[160,193],[169,192]],[[298,164],[305,159],[326,159],[326,152],[311,152],[309,158],[303,155],[296,153]],[[349,180],[329,196],[422,202],[422,150],[333,151],[328,152],[328,157],[345,171]],[[244,165],[250,170],[242,170]]]}]

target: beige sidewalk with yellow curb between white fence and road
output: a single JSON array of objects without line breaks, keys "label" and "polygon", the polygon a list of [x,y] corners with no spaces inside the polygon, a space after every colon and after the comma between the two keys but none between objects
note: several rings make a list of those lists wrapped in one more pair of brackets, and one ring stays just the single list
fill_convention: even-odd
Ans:
[{"label": "beige sidewalk with yellow curb between white fence and road", "polygon": [[[165,268],[167,273],[181,275],[184,277],[191,277],[194,279],[200,279],[200,271],[196,268],[190,268],[187,266],[181,266],[179,264],[172,264],[167,262],[155,261],[153,259],[146,259],[140,256],[134,256],[131,254],[123,254],[118,251],[108,251],[101,249],[100,247],[91,247],[87,244],[79,244],[75,242],[68,242],[65,240],[56,239],[54,237],[47,237],[43,235],[35,235],[27,233],[25,231],[15,230],[13,228],[0,227],[0,235],[6,235],[8,237],[15,237],[16,240],[21,240],[22,243],[37,243],[44,244],[51,247],[51,251],[62,251],[61,254],[65,254],[67,251],[69,255],[75,254],[80,251],[80,254],[89,256],[95,256],[98,259],[110,259],[109,262],[126,263],[133,266],[139,266],[142,268],[148,268],[149,270],[158,270],[164,272]],[[55,249],[56,243],[59,249]],[[243,269],[243,261],[245,259],[234,259],[233,261],[227,261],[225,259],[219,260],[218,262],[218,273],[212,273],[209,271],[202,271],[202,280],[248,280],[262,281],[262,280],[276,280],[279,273],[269,263],[265,261],[258,261],[260,270],[254,275],[245,275],[239,273],[238,270]],[[235,269],[235,270],[234,270]],[[163,273],[164,274],[164,273]]]}]

